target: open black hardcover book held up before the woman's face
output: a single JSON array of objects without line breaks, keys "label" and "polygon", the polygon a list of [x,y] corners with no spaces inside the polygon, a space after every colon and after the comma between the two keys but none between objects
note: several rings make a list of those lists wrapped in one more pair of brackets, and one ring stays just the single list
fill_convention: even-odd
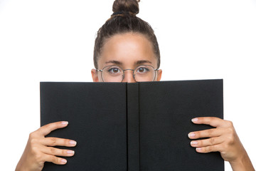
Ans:
[{"label": "open black hardcover book held up before the woman's face", "polygon": [[41,82],[41,125],[67,120],[49,137],[76,140],[66,165],[43,170],[222,171],[219,152],[200,154],[188,133],[223,118],[223,80],[140,83]]}]

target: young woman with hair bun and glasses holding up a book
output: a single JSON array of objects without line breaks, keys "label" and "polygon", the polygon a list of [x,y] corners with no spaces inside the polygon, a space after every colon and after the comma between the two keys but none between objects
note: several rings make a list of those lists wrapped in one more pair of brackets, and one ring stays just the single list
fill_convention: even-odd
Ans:
[{"label": "young woman with hair bun and glasses holding up a book", "polygon": [[[95,40],[92,79],[94,82],[160,81],[159,46],[154,31],[136,14],[136,0],[116,0],[113,14],[99,29]],[[233,124],[220,118],[193,118],[195,124],[215,128],[189,133],[191,146],[196,152],[220,152],[233,170],[254,170]],[[75,140],[45,138],[53,130],[64,128],[68,122],[44,125],[30,134],[26,148],[16,170],[42,170],[45,162],[65,165],[67,160],[57,156],[73,156],[73,150],[61,150],[55,145],[74,147]],[[198,138],[208,138],[198,140]],[[79,142],[78,142],[79,143]]]}]

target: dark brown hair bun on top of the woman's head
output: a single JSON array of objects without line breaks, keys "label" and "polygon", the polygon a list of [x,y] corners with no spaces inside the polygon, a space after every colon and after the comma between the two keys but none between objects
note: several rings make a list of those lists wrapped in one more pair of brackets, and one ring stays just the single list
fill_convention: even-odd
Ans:
[{"label": "dark brown hair bun on top of the woman's head", "polygon": [[139,13],[139,0],[115,0],[112,11],[114,13],[126,11],[136,15]]}]

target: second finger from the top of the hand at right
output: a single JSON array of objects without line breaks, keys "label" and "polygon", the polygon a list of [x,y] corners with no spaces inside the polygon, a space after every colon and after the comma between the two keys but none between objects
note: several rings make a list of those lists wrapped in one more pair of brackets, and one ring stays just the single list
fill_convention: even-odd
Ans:
[{"label": "second finger from the top of the hand at right", "polygon": [[191,138],[191,139],[213,138],[213,137],[218,137],[220,135],[223,135],[223,133],[225,133],[225,130],[221,128],[212,128],[208,130],[191,132],[188,134],[188,138]]}]

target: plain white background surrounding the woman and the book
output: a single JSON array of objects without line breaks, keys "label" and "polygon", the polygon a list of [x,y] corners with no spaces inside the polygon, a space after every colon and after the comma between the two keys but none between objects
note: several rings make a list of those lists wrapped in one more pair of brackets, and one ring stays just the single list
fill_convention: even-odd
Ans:
[{"label": "plain white background surrounding the woman and the book", "polygon": [[[40,126],[40,81],[92,81],[95,34],[113,0],[0,0],[0,170]],[[142,0],[162,80],[224,79],[224,113],[256,163],[256,1]],[[226,163],[226,170],[231,170]]]}]

